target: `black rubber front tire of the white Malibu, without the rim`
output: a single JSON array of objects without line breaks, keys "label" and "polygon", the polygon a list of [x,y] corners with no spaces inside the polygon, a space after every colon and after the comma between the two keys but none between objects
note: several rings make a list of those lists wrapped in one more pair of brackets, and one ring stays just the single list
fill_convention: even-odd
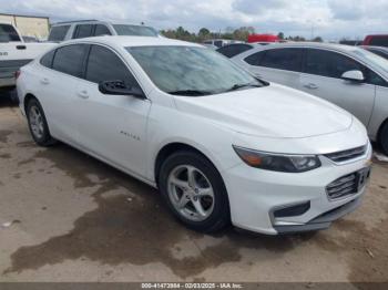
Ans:
[{"label": "black rubber front tire of the white Malibu, without the rim", "polygon": [[[211,216],[203,221],[186,219],[175,209],[170,200],[167,190],[169,175],[176,166],[180,165],[192,165],[198,168],[206,176],[213,187],[214,209]],[[161,167],[159,188],[174,216],[181,222],[194,230],[204,232],[217,231],[229,222],[229,204],[224,182],[214,165],[197,153],[177,152],[171,155]]]}]

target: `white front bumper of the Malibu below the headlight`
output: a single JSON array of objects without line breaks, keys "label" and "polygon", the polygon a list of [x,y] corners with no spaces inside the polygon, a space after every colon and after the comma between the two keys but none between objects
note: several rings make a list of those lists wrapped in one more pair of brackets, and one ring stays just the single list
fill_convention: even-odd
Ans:
[{"label": "white front bumper of the Malibu below the headlight", "polygon": [[[236,227],[278,235],[318,230],[355,210],[366,190],[330,200],[326,187],[339,177],[366,168],[370,164],[371,146],[364,156],[346,164],[335,164],[320,156],[321,167],[299,174],[261,170],[237,165],[224,173],[228,190],[232,222]],[[300,215],[276,217],[279,208],[308,204]]]}]

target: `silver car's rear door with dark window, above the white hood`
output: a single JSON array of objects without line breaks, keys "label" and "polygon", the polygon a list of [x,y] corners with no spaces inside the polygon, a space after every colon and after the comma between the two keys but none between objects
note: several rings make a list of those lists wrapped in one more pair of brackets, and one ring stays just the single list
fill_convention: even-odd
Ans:
[{"label": "silver car's rear door with dark window, above the white hood", "polygon": [[249,71],[257,77],[287,85],[299,86],[303,49],[282,48],[257,52],[245,59]]}]

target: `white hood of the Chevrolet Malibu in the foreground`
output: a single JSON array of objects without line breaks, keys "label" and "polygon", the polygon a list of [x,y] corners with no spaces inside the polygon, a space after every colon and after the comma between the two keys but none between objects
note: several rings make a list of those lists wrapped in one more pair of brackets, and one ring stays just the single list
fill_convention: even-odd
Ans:
[{"label": "white hood of the Chevrolet Malibu in the foreground", "polygon": [[184,113],[254,136],[302,138],[345,131],[353,123],[353,116],[336,105],[278,84],[174,97]]}]

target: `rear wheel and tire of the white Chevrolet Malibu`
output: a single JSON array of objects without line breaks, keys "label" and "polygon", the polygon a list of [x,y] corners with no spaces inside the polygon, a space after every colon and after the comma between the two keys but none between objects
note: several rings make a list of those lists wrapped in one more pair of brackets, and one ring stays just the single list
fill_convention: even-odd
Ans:
[{"label": "rear wheel and tire of the white Chevrolet Malibu", "polygon": [[31,136],[38,145],[47,147],[57,143],[50,135],[44,111],[37,99],[28,102],[25,115]]}]

